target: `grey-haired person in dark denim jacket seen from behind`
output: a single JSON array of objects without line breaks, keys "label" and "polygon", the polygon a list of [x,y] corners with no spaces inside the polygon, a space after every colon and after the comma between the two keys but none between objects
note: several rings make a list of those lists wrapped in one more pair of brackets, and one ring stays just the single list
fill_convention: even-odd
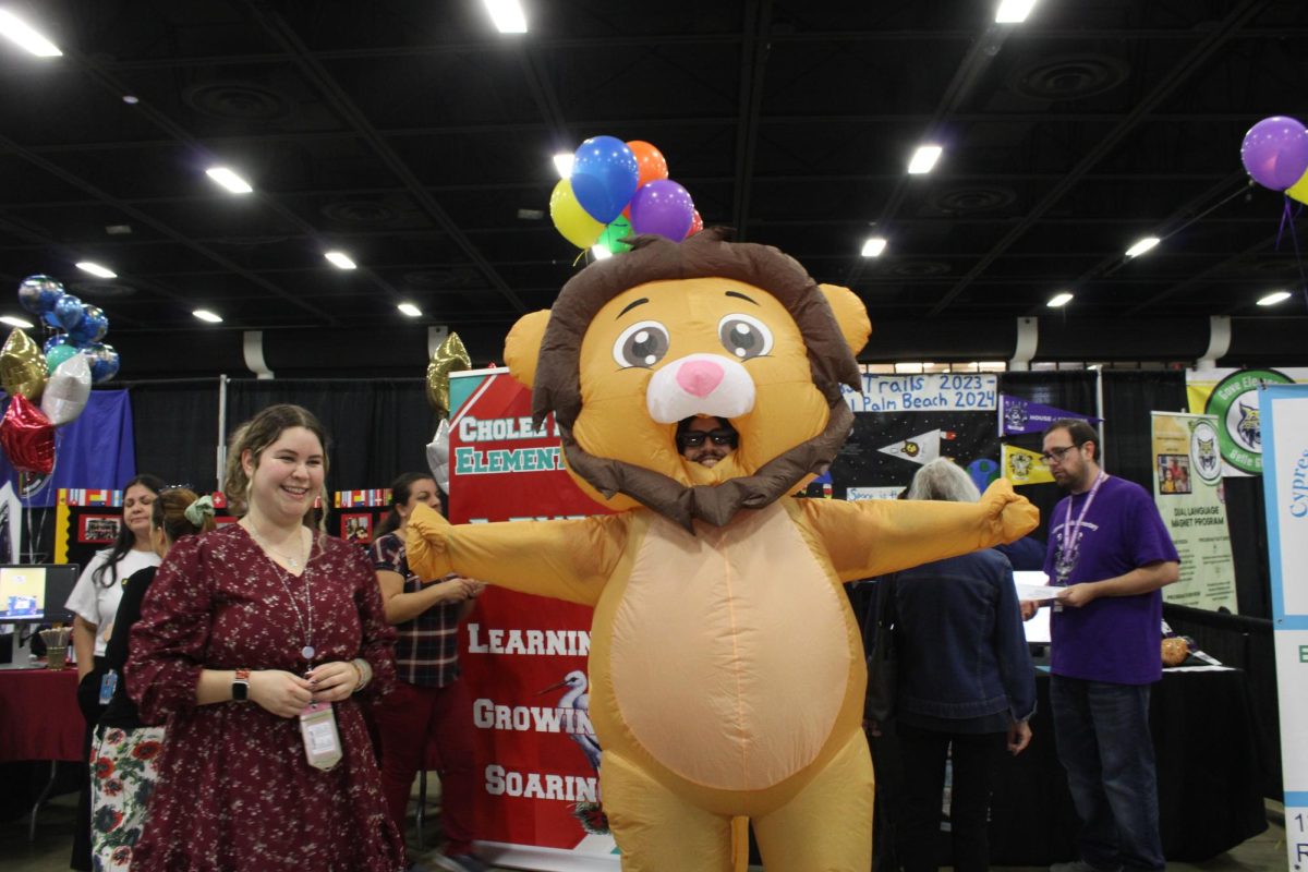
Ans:
[{"label": "grey-haired person in dark denim jacket seen from behind", "polygon": [[[909,499],[976,502],[971,476],[951,460],[918,469]],[[887,582],[883,582],[887,583]],[[899,659],[895,732],[904,805],[895,847],[905,872],[939,868],[944,762],[952,865],[989,868],[990,791],[1007,749],[1031,741],[1036,675],[1022,629],[1012,567],[994,549],[916,566],[891,577]]]}]

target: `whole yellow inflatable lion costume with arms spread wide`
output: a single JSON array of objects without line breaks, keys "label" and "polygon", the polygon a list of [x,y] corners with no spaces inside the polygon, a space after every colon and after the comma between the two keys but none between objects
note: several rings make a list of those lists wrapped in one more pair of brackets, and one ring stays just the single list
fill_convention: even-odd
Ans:
[{"label": "whole yellow inflatable lion costume with arms spread wide", "polygon": [[[449,526],[417,506],[408,562],[594,607],[590,718],[628,872],[729,869],[749,818],[769,872],[871,862],[866,668],[842,583],[1011,541],[1036,511],[1006,482],[980,503],[802,499],[853,424],[841,384],[862,302],[718,230],[574,276],[505,360],[553,413],[568,469],[617,514]],[[725,418],[714,465],[676,443]],[[455,498],[458,493],[455,492]]]}]

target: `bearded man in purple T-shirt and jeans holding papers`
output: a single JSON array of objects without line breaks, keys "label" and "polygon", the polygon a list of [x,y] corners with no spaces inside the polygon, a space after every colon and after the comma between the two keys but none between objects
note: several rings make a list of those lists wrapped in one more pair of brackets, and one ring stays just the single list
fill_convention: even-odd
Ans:
[{"label": "bearded man in purple T-shirt and jeans holding papers", "polygon": [[[1082,820],[1080,859],[1053,872],[1162,869],[1150,685],[1163,677],[1164,584],[1180,557],[1154,499],[1099,468],[1099,435],[1054,421],[1044,461],[1070,492],[1049,519],[1050,707]],[[1024,604],[1024,611],[1029,604]]]}]

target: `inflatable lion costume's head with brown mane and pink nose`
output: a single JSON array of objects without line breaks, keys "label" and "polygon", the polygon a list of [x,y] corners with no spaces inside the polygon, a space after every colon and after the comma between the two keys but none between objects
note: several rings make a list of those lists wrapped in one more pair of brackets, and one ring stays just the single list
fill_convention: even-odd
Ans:
[{"label": "inflatable lion costume's head with brown mane and pink nose", "polygon": [[[536,425],[555,413],[577,484],[611,509],[642,503],[693,529],[825,471],[853,426],[840,386],[859,387],[854,354],[871,333],[858,297],[717,229],[632,242],[505,344]],[[689,416],[727,418],[738,450],[713,468],[687,461],[675,433]]]}]

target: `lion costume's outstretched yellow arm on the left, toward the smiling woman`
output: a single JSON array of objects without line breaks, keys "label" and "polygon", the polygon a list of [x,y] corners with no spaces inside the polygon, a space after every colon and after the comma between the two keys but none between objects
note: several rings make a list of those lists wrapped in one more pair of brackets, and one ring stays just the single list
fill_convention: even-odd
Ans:
[{"label": "lion costume's outstretched yellow arm on the left, toward the smiling woman", "polygon": [[627,543],[623,515],[451,526],[428,506],[409,515],[405,554],[421,578],[458,573],[523,594],[594,605]]}]

